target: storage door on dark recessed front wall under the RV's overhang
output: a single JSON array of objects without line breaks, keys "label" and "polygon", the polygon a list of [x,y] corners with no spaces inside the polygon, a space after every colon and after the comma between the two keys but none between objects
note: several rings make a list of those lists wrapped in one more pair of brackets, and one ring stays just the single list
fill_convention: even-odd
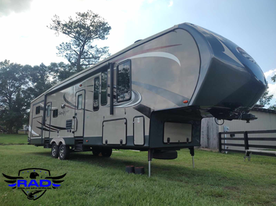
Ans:
[{"label": "storage door on dark recessed front wall under the RV's overhang", "polygon": [[165,122],[163,142],[166,144],[192,142],[192,124]]}]

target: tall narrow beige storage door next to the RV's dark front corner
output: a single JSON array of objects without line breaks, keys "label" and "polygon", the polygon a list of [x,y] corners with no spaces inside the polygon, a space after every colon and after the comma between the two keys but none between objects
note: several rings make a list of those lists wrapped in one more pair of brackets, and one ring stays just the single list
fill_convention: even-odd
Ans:
[{"label": "tall narrow beige storage door next to the RV's dark front corner", "polygon": [[144,117],[133,118],[134,145],[144,145]]}]

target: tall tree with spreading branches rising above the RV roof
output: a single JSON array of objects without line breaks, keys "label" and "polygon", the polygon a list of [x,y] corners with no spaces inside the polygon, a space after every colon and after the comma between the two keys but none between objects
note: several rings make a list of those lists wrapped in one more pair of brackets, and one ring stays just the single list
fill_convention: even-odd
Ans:
[{"label": "tall tree with spreading branches rising above the RV roof", "polygon": [[97,45],[92,45],[94,40],[107,39],[106,35],[109,35],[111,29],[105,19],[93,11],[77,12],[76,18],[70,16],[69,21],[61,21],[59,16],[55,15],[52,24],[47,27],[54,30],[56,35],[62,33],[71,38],[69,42],[62,42],[57,47],[57,54],[76,67],[76,72],[109,55],[108,47],[98,48]]}]

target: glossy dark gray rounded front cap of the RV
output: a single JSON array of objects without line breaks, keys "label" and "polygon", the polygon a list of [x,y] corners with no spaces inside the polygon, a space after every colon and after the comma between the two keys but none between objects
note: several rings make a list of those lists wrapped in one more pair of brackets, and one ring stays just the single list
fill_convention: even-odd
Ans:
[{"label": "glossy dark gray rounded front cap of the RV", "polygon": [[251,110],[267,81],[253,57],[230,40],[191,23],[188,30],[200,51],[200,76],[189,105]]}]

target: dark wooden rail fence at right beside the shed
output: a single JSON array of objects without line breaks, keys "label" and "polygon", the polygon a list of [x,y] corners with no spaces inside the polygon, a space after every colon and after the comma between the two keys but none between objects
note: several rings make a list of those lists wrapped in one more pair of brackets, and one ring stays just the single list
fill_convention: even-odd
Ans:
[{"label": "dark wooden rail fence at right beside the shed", "polygon": [[[262,148],[262,149],[276,149],[276,137],[248,137],[248,135],[251,134],[275,134],[276,130],[258,130],[258,131],[238,131],[238,132],[219,132],[219,152],[222,151],[233,151],[233,152],[239,152],[239,153],[245,153],[246,149],[249,149],[250,147],[253,148]],[[222,137],[222,135],[230,135],[230,137]],[[243,137],[235,137],[235,135],[243,135]],[[237,141],[243,141],[243,143],[229,143],[226,142],[227,140],[237,140]],[[224,142],[222,142],[224,141]],[[249,141],[270,141],[275,142],[275,145],[263,145],[263,144],[249,144]],[[227,149],[225,147],[241,147],[241,149]],[[258,155],[265,155],[265,156],[275,156],[275,154],[266,154],[262,152],[254,153]]]}]

